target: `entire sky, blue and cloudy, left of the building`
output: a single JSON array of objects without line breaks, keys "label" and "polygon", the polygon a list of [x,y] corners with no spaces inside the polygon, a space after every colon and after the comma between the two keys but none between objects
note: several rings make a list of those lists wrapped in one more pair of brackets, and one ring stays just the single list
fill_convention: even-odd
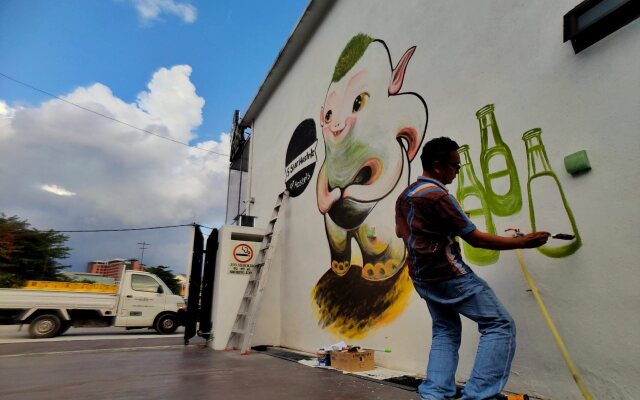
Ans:
[{"label": "entire sky, blue and cloudy, left of the building", "polygon": [[[219,228],[233,111],[307,4],[1,0],[0,212],[42,230]],[[67,235],[69,271],[147,243],[144,264],[185,273],[192,228]]]}]

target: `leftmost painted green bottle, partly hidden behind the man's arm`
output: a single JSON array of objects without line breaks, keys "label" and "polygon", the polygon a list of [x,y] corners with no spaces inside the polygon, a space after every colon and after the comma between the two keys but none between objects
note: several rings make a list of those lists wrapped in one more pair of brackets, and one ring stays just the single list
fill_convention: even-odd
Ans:
[{"label": "leftmost painted green bottle, partly hidden behind the man's arm", "polygon": [[[469,146],[466,144],[460,146],[458,153],[460,154],[460,171],[458,172],[456,197],[479,229],[495,234],[496,227],[493,223],[491,210],[487,204],[484,188],[473,170]],[[462,250],[465,259],[475,265],[491,265],[500,257],[499,251],[476,248],[465,241],[463,241]]]}]

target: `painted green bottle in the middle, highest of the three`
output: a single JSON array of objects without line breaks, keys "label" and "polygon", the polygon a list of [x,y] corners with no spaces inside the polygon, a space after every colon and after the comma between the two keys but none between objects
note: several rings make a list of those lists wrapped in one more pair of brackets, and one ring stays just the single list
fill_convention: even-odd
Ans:
[{"label": "painted green bottle in the middle, highest of the three", "polygon": [[[520,211],[522,193],[516,164],[509,146],[500,136],[494,108],[489,104],[476,112],[480,123],[480,168],[491,212],[506,217]],[[508,181],[508,188],[504,187],[506,182],[500,181]]]}]

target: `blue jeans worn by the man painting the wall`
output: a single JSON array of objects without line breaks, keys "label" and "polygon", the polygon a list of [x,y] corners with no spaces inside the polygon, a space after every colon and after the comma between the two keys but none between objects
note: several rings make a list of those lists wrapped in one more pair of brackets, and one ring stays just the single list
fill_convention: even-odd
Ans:
[{"label": "blue jeans worn by the man painting the wall", "polygon": [[422,400],[443,400],[456,393],[462,323],[460,315],[475,321],[480,344],[462,399],[494,399],[509,378],[516,350],[516,326],[487,282],[468,273],[438,283],[414,281],[427,302],[433,321],[427,377],[418,388]]}]

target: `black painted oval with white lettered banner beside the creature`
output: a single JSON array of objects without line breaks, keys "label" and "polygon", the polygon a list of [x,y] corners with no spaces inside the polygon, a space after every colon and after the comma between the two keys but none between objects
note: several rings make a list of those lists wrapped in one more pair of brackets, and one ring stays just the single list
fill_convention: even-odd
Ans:
[{"label": "black painted oval with white lettered banner beside the creature", "polygon": [[285,161],[285,185],[291,197],[297,197],[311,182],[316,168],[316,123],[305,119],[298,125],[287,147]]}]

